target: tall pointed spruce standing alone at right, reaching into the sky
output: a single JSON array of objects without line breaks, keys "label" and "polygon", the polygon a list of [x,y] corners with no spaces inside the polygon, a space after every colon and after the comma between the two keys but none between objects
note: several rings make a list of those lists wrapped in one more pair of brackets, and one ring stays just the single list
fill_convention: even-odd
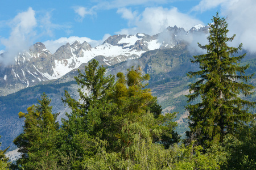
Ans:
[{"label": "tall pointed spruce standing alone at right, reaching into the sky", "polygon": [[187,95],[188,102],[201,99],[197,104],[189,104],[189,128],[187,137],[197,139],[200,144],[222,142],[225,134],[234,133],[238,124],[249,122],[254,117],[248,109],[255,105],[239,95],[251,95],[253,86],[245,84],[253,75],[245,75],[249,67],[240,66],[241,56],[234,56],[242,49],[229,47],[228,42],[236,35],[228,37],[228,24],[218,13],[209,24],[209,44],[201,45],[207,54],[193,56],[192,63],[199,63],[200,71],[188,73],[189,78],[199,78],[189,85],[192,94]]}]

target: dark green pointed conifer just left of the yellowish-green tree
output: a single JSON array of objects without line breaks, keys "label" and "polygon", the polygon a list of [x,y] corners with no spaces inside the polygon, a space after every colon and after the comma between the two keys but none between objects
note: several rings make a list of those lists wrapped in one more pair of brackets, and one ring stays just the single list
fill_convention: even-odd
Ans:
[{"label": "dark green pointed conifer just left of the yellowish-green tree", "polygon": [[[79,101],[65,91],[63,102],[72,109],[67,113],[68,120],[63,120],[63,126],[60,129],[59,142],[60,152],[65,153],[64,158],[74,160],[73,168],[81,169],[81,161],[84,156],[95,154],[95,137],[101,134],[101,130],[106,124],[101,124],[104,115],[90,113],[93,109],[108,102],[106,96],[111,91],[114,84],[114,76],[105,76],[106,68],[98,66],[98,61],[93,59],[85,66],[84,73],[79,70],[79,75],[75,76],[78,89]],[[105,109],[102,109],[104,112]],[[94,112],[95,113],[95,112]],[[92,129],[92,126],[97,128]],[[96,135],[97,134],[97,135]]]}]

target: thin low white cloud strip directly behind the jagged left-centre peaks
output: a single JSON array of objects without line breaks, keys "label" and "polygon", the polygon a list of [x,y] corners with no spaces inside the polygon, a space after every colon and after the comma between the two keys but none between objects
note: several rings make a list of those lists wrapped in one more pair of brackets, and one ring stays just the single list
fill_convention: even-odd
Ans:
[{"label": "thin low white cloud strip directly behind the jagged left-centre peaks", "polygon": [[58,48],[60,48],[61,45],[65,45],[69,42],[71,44],[74,41],[79,41],[81,44],[82,42],[86,41],[88,42],[92,47],[101,45],[102,42],[104,42],[110,34],[106,33],[104,37],[102,37],[101,40],[92,40],[88,37],[77,37],[77,36],[71,36],[71,37],[61,37],[60,39],[57,40],[47,40],[44,41],[43,44],[46,45],[46,48],[53,54],[56,52]]}]

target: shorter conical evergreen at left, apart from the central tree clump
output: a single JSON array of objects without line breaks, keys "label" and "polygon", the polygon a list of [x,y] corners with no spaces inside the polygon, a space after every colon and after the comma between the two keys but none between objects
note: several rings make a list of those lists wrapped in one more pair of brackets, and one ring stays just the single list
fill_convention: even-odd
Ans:
[{"label": "shorter conical evergreen at left, apart from the central tree clump", "polygon": [[16,161],[23,169],[55,169],[56,135],[59,124],[57,114],[52,114],[51,100],[42,95],[39,104],[27,108],[27,113],[19,112],[19,118],[25,118],[23,133],[14,139],[14,144],[22,152],[22,158]]}]

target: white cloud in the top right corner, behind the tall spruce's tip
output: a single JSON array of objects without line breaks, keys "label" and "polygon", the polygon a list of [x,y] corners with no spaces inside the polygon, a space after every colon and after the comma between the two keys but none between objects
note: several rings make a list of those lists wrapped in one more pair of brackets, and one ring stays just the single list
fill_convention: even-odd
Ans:
[{"label": "white cloud in the top right corner, behind the tall spruce's tip", "polygon": [[232,46],[238,46],[241,42],[243,48],[250,52],[256,52],[256,1],[255,0],[202,0],[192,11],[207,11],[220,6],[221,15],[227,18],[229,36],[236,34]]}]

